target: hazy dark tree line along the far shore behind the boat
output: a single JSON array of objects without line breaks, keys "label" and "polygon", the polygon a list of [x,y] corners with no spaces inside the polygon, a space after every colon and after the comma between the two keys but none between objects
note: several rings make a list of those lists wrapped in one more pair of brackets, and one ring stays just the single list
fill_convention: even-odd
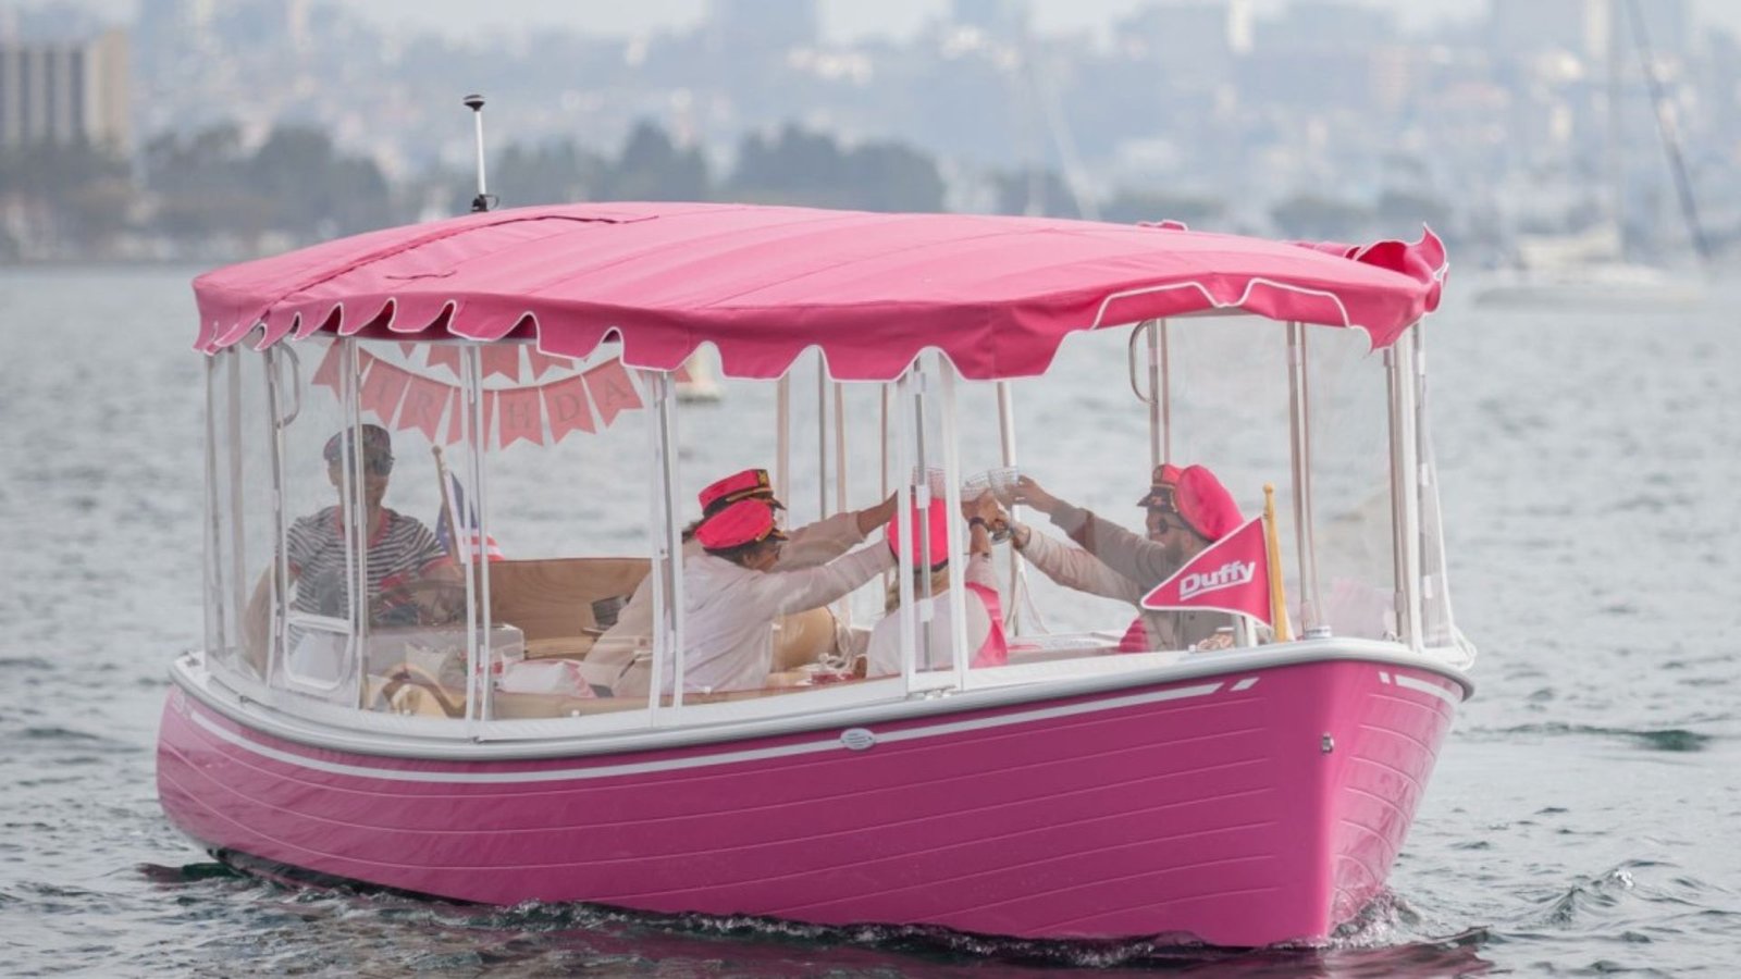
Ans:
[{"label": "hazy dark tree line along the far shore behind the boat", "polygon": [[[489,165],[503,206],[575,200],[749,200],[867,211],[945,211],[949,193],[935,157],[895,141],[844,145],[789,124],[745,134],[728,172],[714,172],[695,146],[651,122],[637,124],[615,153],[575,141],[510,145]],[[973,209],[1076,218],[1076,197],[1057,172],[1022,167],[982,174]],[[103,146],[64,145],[0,152],[0,260],[31,254],[103,256],[118,237],[167,242],[174,253],[221,258],[324,240],[470,207],[472,174],[425,172],[388,181],[366,155],[310,125],[284,124],[249,146],[239,124],[162,134],[124,160]],[[1118,190],[1097,206],[1109,221],[1180,219],[1229,228],[1220,199],[1165,190]],[[1358,239],[1377,225],[1408,233],[1421,219],[1443,225],[1428,199],[1363,206],[1321,195],[1274,204],[1280,233]],[[1400,226],[1395,226],[1400,225]],[[1257,228],[1267,230],[1267,228]]]}]

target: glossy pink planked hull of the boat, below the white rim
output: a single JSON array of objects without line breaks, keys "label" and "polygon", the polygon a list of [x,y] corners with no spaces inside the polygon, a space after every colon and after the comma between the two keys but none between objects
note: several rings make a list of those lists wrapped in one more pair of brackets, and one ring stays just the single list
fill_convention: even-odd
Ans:
[{"label": "glossy pink planked hull of the boat, below the white rim", "polygon": [[1316,941],[1377,895],[1462,688],[1314,660],[665,751],[437,761],[176,690],[158,791],[212,852],[460,901],[1036,939]]}]

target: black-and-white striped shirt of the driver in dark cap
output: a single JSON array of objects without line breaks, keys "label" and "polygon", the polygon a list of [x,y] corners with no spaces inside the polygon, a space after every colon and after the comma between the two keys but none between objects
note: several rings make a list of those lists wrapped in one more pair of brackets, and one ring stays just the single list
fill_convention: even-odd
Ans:
[{"label": "black-and-white striped shirt of the driver in dark cap", "polygon": [[[345,524],[338,507],[326,507],[292,523],[287,557],[296,580],[292,610],[350,618]],[[416,580],[446,559],[447,552],[427,526],[383,507],[381,526],[369,540],[366,594],[373,601],[383,591]],[[383,617],[376,615],[378,620]]]}]

